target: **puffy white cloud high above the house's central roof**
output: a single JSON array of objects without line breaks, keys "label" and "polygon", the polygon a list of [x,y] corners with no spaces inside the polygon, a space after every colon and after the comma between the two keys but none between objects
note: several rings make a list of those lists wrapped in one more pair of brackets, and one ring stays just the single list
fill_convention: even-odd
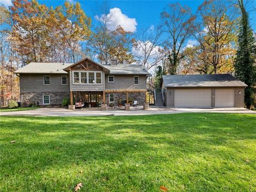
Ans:
[{"label": "puffy white cloud high above the house's central roof", "polygon": [[[103,17],[106,17],[106,16],[101,15],[101,17],[99,17],[98,15],[96,15],[95,19],[103,20],[102,19]],[[125,31],[128,31],[128,32],[136,31],[136,26],[138,25],[136,19],[129,18],[126,14],[122,13],[121,9],[117,7],[109,10],[109,13],[107,14],[107,18],[111,22],[111,24],[109,24],[109,28],[111,30],[115,30],[113,29],[113,26],[115,26],[114,28],[116,28],[117,26],[121,26]]]}]

